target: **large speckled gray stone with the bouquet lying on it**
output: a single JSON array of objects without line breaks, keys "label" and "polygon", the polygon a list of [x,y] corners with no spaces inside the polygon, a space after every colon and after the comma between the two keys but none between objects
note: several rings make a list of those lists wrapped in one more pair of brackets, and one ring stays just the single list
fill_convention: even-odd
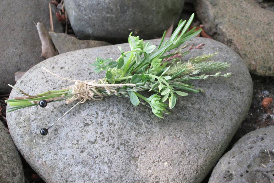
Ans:
[{"label": "large speckled gray stone with the bouquet lying on it", "polygon": [[[152,43],[159,43],[159,39]],[[214,60],[231,63],[235,75],[197,81],[206,94],[180,97],[170,116],[153,115],[128,98],[88,101],[48,127],[73,104],[49,104],[7,114],[11,136],[27,162],[47,183],[58,182],[200,182],[221,157],[245,117],[252,97],[252,81],[242,59],[217,41],[205,43],[188,57],[214,53]],[[128,44],[121,45],[128,50]],[[117,58],[117,45],[83,49],[47,59],[19,79],[15,86],[30,94],[59,89],[72,83],[41,70],[81,80],[102,77],[92,72],[97,56]],[[186,59],[188,58],[186,57]],[[79,64],[81,63],[81,64]],[[20,96],[12,91],[10,98]]]}]

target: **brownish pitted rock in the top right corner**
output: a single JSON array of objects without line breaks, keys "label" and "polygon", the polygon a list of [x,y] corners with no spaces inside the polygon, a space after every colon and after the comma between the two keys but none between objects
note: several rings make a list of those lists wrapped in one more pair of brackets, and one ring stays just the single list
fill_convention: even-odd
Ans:
[{"label": "brownish pitted rock in the top right corner", "polygon": [[195,9],[206,32],[239,53],[249,71],[274,76],[274,12],[255,0],[200,0]]}]

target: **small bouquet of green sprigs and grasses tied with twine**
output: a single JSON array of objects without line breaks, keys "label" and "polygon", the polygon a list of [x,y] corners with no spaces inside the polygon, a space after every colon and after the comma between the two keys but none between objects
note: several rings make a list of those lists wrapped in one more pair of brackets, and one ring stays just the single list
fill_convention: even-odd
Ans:
[{"label": "small bouquet of green sprigs and grasses tied with twine", "polygon": [[[152,109],[152,112],[159,118],[163,114],[169,114],[168,108],[174,108],[178,96],[187,96],[187,92],[198,93],[201,89],[189,83],[195,79],[208,79],[209,77],[229,77],[232,73],[221,74],[219,71],[229,67],[226,62],[208,61],[217,53],[197,56],[188,61],[181,61],[181,57],[189,53],[192,49],[202,49],[203,43],[191,45],[190,47],[181,45],[196,37],[202,29],[194,31],[196,27],[187,31],[194,18],[194,14],[188,21],[180,20],[178,27],[169,39],[164,39],[166,31],[158,47],[149,41],[144,42],[138,36],[128,37],[130,51],[124,52],[118,46],[121,55],[115,61],[112,58],[104,59],[97,57],[91,64],[94,72],[104,71],[105,77],[98,80],[72,80],[75,84],[57,91],[47,91],[37,95],[29,95],[20,89],[25,97],[16,97],[6,100],[12,108],[7,112],[39,105],[47,106],[50,102],[67,100],[67,103],[74,100],[85,102],[86,100],[101,100],[104,96],[116,95],[118,97],[128,97],[130,102],[137,106],[140,103]],[[172,54],[168,51],[181,47]],[[188,49],[186,49],[188,47]],[[216,71],[215,75],[206,75]],[[50,71],[48,71],[50,72]],[[52,73],[53,74],[53,73]],[[198,75],[199,74],[199,75]],[[55,74],[54,74],[55,75]],[[147,91],[150,95],[146,98],[140,92]],[[168,101],[168,102],[166,102]]]}]

